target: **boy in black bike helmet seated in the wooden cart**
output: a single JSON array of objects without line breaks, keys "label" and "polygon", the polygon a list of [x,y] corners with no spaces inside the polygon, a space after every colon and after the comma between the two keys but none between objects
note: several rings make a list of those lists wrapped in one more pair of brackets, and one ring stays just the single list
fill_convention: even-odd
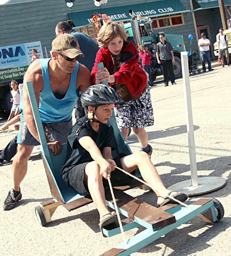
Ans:
[{"label": "boy in black bike helmet seated in the wooden cart", "polygon": [[[62,177],[68,186],[78,193],[90,193],[100,216],[100,228],[117,220],[116,212],[109,212],[106,206],[104,186],[111,183],[126,182],[127,176],[115,166],[131,173],[139,168],[143,179],[155,187],[157,207],[173,201],[165,198],[166,194],[184,202],[187,194],[167,190],[148,154],[137,152],[129,156],[119,154],[112,158],[111,151],[116,149],[113,139],[113,127],[108,124],[114,104],[122,103],[113,88],[94,85],[81,95],[83,107],[88,107],[88,115],[79,119],[67,137],[67,157],[62,168]],[[174,203],[176,203],[174,201]]]}]

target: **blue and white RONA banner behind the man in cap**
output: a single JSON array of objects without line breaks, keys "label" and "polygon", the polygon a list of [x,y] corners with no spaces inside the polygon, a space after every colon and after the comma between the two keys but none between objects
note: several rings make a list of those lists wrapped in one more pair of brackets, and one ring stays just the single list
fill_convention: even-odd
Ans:
[{"label": "blue and white RONA banner behind the man in cap", "polygon": [[40,41],[0,47],[0,83],[23,78],[31,63],[33,48],[43,58]]}]

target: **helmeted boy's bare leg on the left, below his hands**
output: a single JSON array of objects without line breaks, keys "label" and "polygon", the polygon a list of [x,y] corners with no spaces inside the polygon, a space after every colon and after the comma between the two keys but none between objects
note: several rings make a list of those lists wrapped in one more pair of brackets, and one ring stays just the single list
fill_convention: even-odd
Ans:
[{"label": "helmeted boy's bare leg on the left, below his hands", "polygon": [[85,167],[84,184],[88,186],[92,200],[99,211],[99,218],[102,218],[110,211],[106,206],[103,176],[99,172],[99,165],[95,161],[88,163]]}]

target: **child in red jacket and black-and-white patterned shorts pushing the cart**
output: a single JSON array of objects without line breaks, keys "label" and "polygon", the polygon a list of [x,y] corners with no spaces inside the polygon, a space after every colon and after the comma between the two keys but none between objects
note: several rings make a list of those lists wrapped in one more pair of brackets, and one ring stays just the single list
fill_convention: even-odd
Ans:
[{"label": "child in red jacket and black-and-white patterned shorts pushing the cart", "polygon": [[[139,54],[136,46],[126,40],[124,28],[118,23],[107,22],[99,30],[97,41],[99,51],[91,72],[91,83],[108,81],[116,89],[117,95],[124,100],[115,108],[116,121],[123,137],[127,141],[129,127],[141,144],[141,151],[151,156],[152,147],[148,144],[145,128],[154,123],[150,88],[147,75],[139,66]],[[98,70],[97,63],[104,63]]]}]

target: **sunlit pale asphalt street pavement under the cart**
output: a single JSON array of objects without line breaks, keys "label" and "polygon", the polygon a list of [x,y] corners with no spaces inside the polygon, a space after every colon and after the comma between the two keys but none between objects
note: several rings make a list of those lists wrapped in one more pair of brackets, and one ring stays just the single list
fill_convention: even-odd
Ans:
[{"label": "sunlit pale asphalt street pavement under the cart", "polygon": [[[190,76],[197,174],[223,177],[227,184],[211,193],[190,197],[187,204],[199,198],[217,198],[224,207],[224,218],[219,223],[191,219],[132,256],[231,255],[231,67],[213,67],[214,71]],[[146,129],[153,148],[152,163],[166,187],[191,178],[182,79],[176,79],[176,83],[164,87],[163,81],[157,81],[157,86],[151,88],[155,124]],[[0,124],[5,121],[0,119]],[[0,133],[0,147],[5,147],[15,134],[16,131]],[[128,144],[133,152],[140,150],[133,133]],[[12,163],[0,166],[0,186],[3,203],[12,186]],[[94,204],[72,212],[59,206],[51,223],[46,227],[39,224],[35,206],[52,198],[40,154],[30,157],[21,191],[23,199],[15,209],[0,209],[3,256],[97,256],[122,242],[121,235],[102,237]],[[153,192],[132,189],[127,193],[156,205]],[[125,236],[139,232],[134,228]]]}]

